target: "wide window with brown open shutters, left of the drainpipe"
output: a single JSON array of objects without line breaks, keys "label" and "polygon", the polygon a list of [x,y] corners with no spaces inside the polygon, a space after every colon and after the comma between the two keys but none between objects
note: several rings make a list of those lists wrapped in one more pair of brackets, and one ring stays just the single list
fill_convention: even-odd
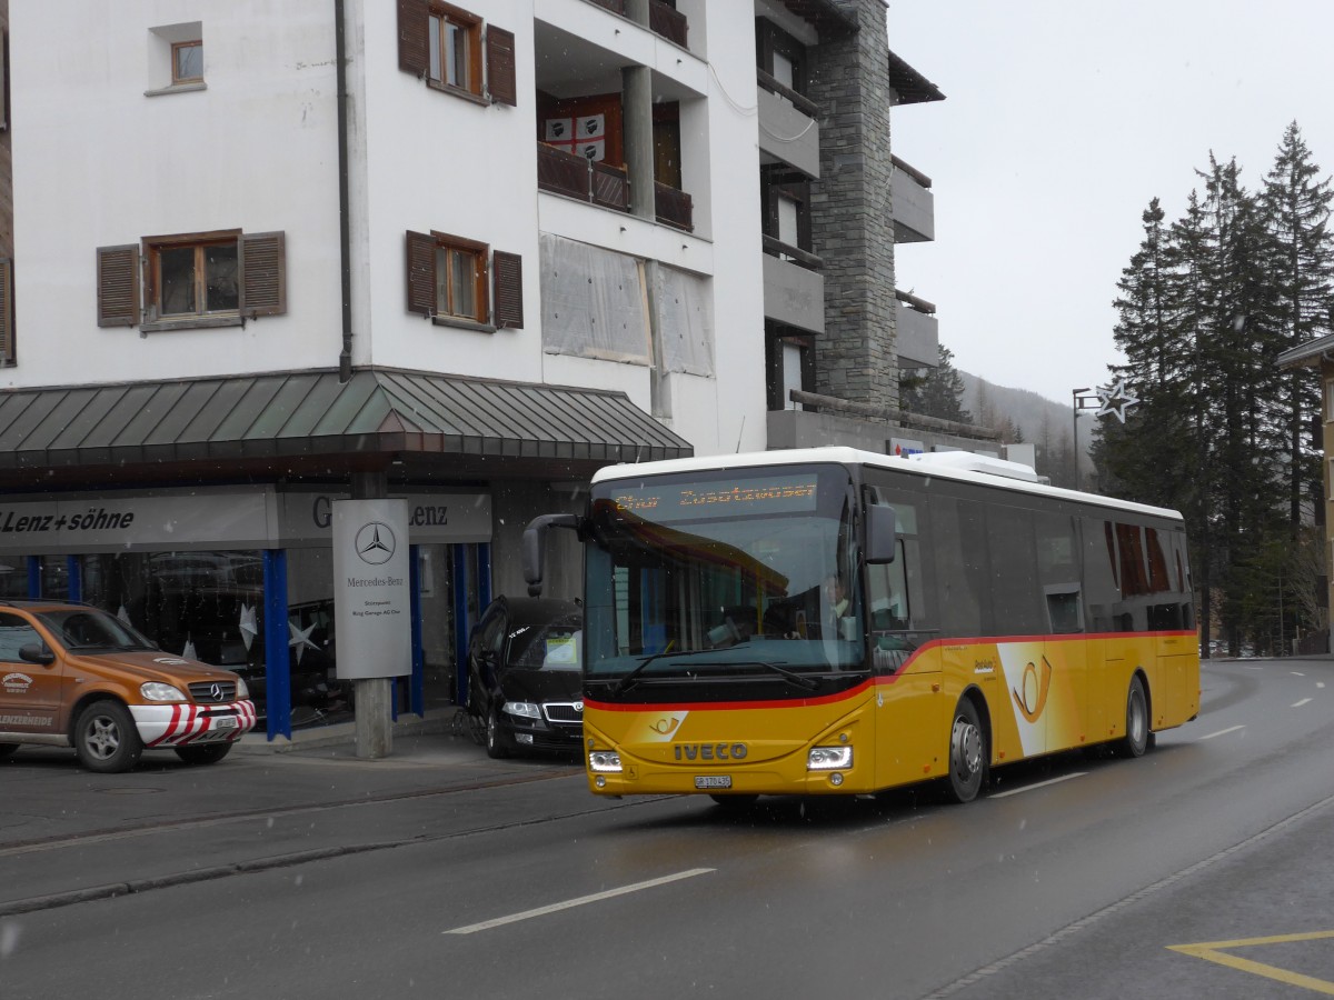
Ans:
[{"label": "wide window with brown open shutters, left of the drainpipe", "polygon": [[285,244],[281,232],[227,229],[99,247],[97,325],[151,332],[285,313]]}]

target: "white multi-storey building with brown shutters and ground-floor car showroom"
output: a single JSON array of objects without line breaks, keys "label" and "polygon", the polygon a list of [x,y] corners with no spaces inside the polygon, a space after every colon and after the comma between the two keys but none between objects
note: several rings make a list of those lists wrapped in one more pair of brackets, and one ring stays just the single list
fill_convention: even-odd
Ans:
[{"label": "white multi-storey building with brown shutters and ground-floor car showroom", "polygon": [[[347,708],[328,504],[403,496],[398,711],[462,703],[468,627],[522,591],[530,517],[575,509],[602,464],[770,447],[814,371],[788,352],[784,376],[775,336],[810,345],[802,316],[838,304],[806,276],[775,297],[762,187],[775,143],[818,183],[818,115],[758,84],[756,25],[818,45],[862,8],[883,17],[9,0],[0,529],[67,527],[0,531],[5,593],[237,669],[291,736]],[[576,593],[580,567],[551,567]]]}]

